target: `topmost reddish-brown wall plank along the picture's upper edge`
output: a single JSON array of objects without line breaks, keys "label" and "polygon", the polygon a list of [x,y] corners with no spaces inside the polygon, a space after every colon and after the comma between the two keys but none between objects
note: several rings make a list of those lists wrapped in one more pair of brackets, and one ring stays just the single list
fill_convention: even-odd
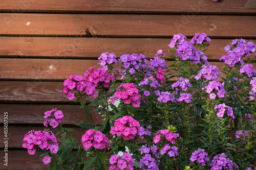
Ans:
[{"label": "topmost reddish-brown wall plank along the picture's upper edge", "polygon": [[19,1],[1,0],[1,12],[54,12],[54,13],[228,13],[228,14],[255,14],[255,10],[245,8],[247,1],[225,0],[220,2],[212,1],[82,1],[71,0],[59,1]]}]

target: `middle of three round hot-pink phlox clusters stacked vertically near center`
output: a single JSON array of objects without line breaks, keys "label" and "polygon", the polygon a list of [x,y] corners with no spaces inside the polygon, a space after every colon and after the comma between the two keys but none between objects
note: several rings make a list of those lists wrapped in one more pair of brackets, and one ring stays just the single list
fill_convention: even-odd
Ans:
[{"label": "middle of three round hot-pink phlox clusters stacked vertically near center", "polygon": [[114,127],[111,129],[112,135],[122,135],[124,140],[133,139],[140,132],[140,124],[131,116],[119,117],[115,120]]}]

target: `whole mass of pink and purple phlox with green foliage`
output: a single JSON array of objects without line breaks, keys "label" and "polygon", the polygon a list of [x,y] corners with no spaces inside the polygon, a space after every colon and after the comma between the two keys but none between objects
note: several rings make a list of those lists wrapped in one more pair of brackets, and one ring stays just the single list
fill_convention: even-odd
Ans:
[{"label": "whole mass of pink and purple phlox with green foliage", "polygon": [[[233,40],[220,72],[205,54],[208,42],[203,33],[191,41],[174,35],[169,66],[162,50],[154,59],[122,55],[119,68],[114,53],[102,53],[102,67],[63,83],[62,93],[85,110],[76,124],[87,130],[81,140],[52,109],[44,125],[60,128],[59,142],[49,130],[30,131],[23,147],[41,152],[49,169],[252,169],[256,44]],[[103,125],[94,123],[93,112],[103,116]]]}]

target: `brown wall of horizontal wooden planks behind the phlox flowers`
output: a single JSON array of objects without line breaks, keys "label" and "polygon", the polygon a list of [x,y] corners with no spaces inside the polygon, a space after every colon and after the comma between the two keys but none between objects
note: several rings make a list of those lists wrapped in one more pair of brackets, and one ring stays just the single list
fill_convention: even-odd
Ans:
[{"label": "brown wall of horizontal wooden planks behind the phlox flowers", "polygon": [[[256,43],[254,0],[0,0],[0,169],[47,169],[22,148],[31,129],[42,130],[44,112],[57,108],[66,126],[83,110],[64,94],[62,82],[83,75],[103,52],[167,53],[174,34],[211,38],[207,54],[218,65],[233,38]],[[168,58],[170,59],[170,58]],[[4,112],[8,112],[8,166],[3,163]],[[97,124],[101,117],[94,114]],[[76,128],[79,129],[79,128]],[[77,139],[83,131],[76,132]]]}]

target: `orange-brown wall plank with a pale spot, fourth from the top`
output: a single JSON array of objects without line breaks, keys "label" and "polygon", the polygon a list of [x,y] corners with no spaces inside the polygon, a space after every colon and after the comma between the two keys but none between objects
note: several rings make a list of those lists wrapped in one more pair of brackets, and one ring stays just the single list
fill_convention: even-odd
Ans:
[{"label": "orange-brown wall plank with a pale spot, fourth from the top", "polygon": [[[36,86],[44,85],[44,81],[64,81],[70,75],[81,75],[89,67],[100,66],[97,60],[69,60],[69,59],[17,59],[1,58],[0,59],[0,79],[3,80],[30,80],[34,81]],[[171,61],[167,61],[170,65]],[[224,62],[210,62],[210,65],[216,65],[221,69]],[[175,81],[175,79],[172,79]],[[47,82],[53,83],[53,82]],[[59,82],[62,84],[62,82]],[[28,84],[28,83],[26,83]],[[29,82],[30,84],[30,82]],[[62,90],[63,86],[56,86]],[[17,87],[18,88],[18,87]],[[60,89],[59,89],[60,88]],[[1,90],[0,90],[1,91]],[[45,89],[47,91],[47,89]]]}]

